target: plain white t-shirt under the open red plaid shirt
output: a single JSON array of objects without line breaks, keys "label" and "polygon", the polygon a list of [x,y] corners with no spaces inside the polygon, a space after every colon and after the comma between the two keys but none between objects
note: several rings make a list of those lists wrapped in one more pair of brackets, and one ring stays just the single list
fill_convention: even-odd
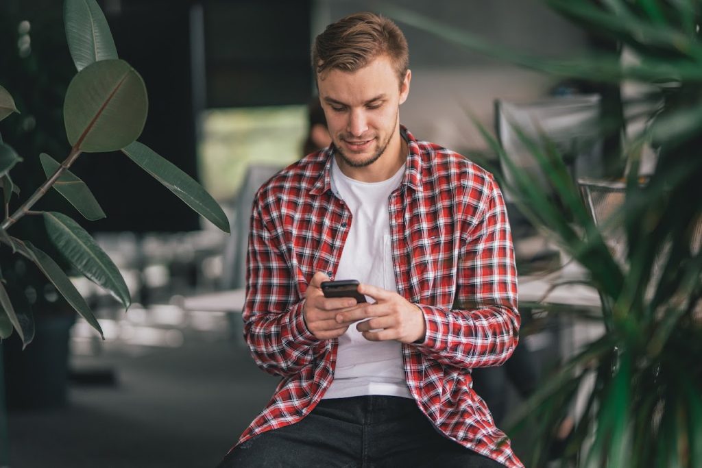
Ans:
[{"label": "plain white t-shirt under the open red plaid shirt", "polygon": [[[405,166],[402,166],[383,182],[359,182],[344,175],[336,160],[332,161],[333,190],[352,213],[335,279],[357,279],[397,291],[390,246],[388,197],[399,187],[404,171]],[[352,324],[339,337],[334,379],[324,398],[362,395],[411,398],[404,376],[402,344],[394,340],[371,342]]]}]

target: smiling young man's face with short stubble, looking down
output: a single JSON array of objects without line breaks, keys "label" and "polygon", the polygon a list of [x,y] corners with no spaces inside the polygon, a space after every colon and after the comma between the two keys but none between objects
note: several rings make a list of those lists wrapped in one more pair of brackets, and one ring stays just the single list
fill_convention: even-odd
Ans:
[{"label": "smiling young man's face with short stubble, looking down", "polygon": [[332,69],[319,79],[319,98],[341,163],[362,168],[391,149],[399,151],[399,105],[407,99],[410,78],[408,71],[399,83],[390,58],[381,55],[355,72]]}]

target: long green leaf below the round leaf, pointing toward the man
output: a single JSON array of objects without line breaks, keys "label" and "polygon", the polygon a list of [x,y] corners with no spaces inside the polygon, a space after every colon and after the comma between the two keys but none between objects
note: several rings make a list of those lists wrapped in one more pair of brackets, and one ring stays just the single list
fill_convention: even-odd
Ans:
[{"label": "long green leaf below the round leaf, pointing toward the man", "polygon": [[180,171],[173,163],[140,142],[133,142],[124,147],[122,152],[176,194],[179,199],[185,201],[187,206],[210,220],[219,229],[230,232],[227,215],[215,199],[190,175]]}]

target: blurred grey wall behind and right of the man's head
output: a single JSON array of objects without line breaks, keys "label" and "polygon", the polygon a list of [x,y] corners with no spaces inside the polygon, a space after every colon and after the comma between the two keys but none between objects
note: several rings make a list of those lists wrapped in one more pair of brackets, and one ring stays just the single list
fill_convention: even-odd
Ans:
[{"label": "blurred grey wall behind and right of the man's head", "polygon": [[[538,0],[317,0],[312,38],[329,22],[355,11],[383,13],[383,4],[421,13],[529,53],[572,56],[588,47],[579,29]],[[412,69],[411,91],[400,119],[418,138],[458,151],[481,151],[486,145],[468,119],[466,108],[493,128],[494,100],[535,100],[557,82],[552,76],[448,44],[402,22],[398,25],[409,43]]]}]

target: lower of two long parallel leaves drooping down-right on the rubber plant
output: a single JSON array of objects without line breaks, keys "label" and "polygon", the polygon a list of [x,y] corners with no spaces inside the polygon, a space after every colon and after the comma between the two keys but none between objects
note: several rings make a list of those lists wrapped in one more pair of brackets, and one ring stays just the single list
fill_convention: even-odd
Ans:
[{"label": "lower of two long parallel leaves drooping down-right on the rubber plant", "polygon": [[105,339],[105,335],[102,333],[102,327],[100,323],[95,319],[93,311],[86,303],[85,299],[78,292],[71,280],[66,276],[61,267],[53,261],[51,257],[46,255],[42,250],[34,247],[32,243],[28,241],[20,241],[19,239],[13,239],[18,245],[18,250],[25,255],[25,257],[32,260],[34,264],[41,269],[46,278],[48,278],[53,286],[56,287],[59,293],[68,301],[68,303],[73,307],[76,312],[78,312],[95,330],[98,330],[102,339]]}]

